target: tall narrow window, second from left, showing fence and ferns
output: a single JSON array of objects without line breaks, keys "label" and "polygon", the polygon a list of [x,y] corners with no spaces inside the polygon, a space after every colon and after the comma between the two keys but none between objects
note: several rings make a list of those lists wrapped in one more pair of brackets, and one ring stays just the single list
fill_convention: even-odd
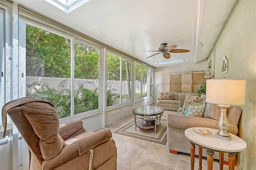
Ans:
[{"label": "tall narrow window, second from left, showing fence and ferns", "polygon": [[99,108],[99,49],[75,42],[74,114]]}]

